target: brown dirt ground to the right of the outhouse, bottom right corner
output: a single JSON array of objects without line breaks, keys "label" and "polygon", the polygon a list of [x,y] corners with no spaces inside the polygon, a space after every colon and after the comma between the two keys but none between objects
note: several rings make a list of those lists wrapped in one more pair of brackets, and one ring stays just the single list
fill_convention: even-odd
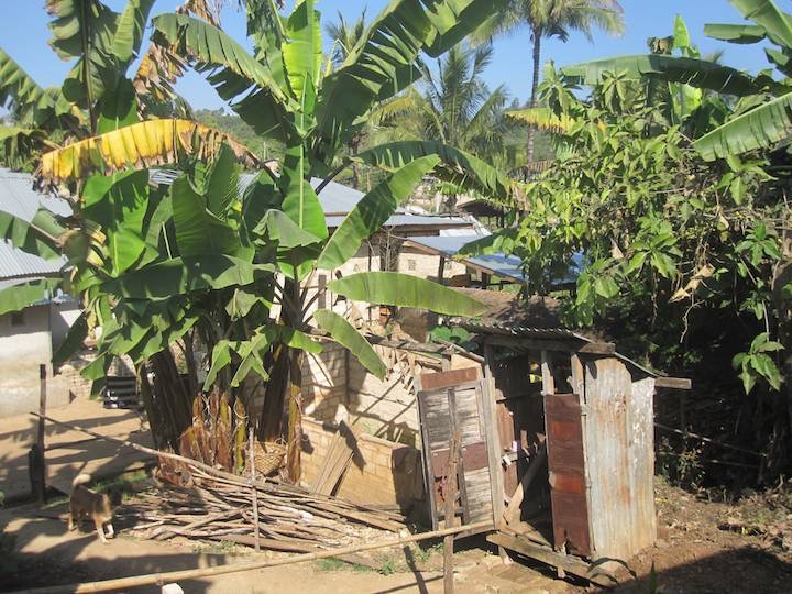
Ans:
[{"label": "brown dirt ground to the right of the outhouse, bottom right corner", "polygon": [[792,592],[791,488],[725,503],[658,482],[656,499],[657,546],[629,561],[638,581],[617,592]]}]

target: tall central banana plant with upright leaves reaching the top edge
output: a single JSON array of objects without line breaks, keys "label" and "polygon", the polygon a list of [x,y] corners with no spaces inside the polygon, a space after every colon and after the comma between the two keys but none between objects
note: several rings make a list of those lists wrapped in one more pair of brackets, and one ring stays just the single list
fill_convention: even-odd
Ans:
[{"label": "tall central banana plant with upright leaves reaching the top edge", "polygon": [[[306,351],[321,349],[316,334],[322,333],[324,339],[348,348],[372,373],[384,373],[383,363],[358,329],[332,308],[316,310],[319,298],[309,290],[315,271],[338,270],[429,172],[502,201],[518,198],[519,189],[510,179],[481,160],[441,143],[391,143],[338,158],[371,110],[418,78],[421,54],[439,56],[454,46],[482,22],[492,7],[491,1],[483,0],[442,0],[430,6],[417,0],[395,0],[373,20],[337,67],[322,54],[320,15],[311,0],[298,1],[286,16],[270,1],[246,2],[253,54],[219,28],[189,15],[163,14],[153,21],[153,40],[157,44],[207,73],[220,97],[231,101],[230,107],[245,122],[263,136],[286,146],[279,175],[262,170],[245,188],[244,198],[231,200],[241,212],[240,224],[248,233],[248,243],[243,242],[242,250],[235,251],[237,242],[230,239],[227,242],[222,231],[213,248],[219,251],[216,255],[224,257],[239,257],[234,254],[250,257],[252,250],[251,262],[276,266],[277,273],[272,278],[273,315],[265,323],[253,326],[248,340],[221,340],[213,346],[205,388],[229,365],[237,365],[232,382],[241,381],[246,372],[268,376],[262,438],[286,435],[292,480],[297,481],[300,474],[300,367]],[[125,134],[125,130],[118,133]],[[130,146],[133,145],[125,146],[129,152],[124,158],[116,160],[107,135],[92,139],[90,148],[86,148],[90,157],[79,162],[79,174],[87,175],[92,169],[109,174],[138,161],[150,163],[155,158],[156,151],[152,151],[138,160]],[[142,148],[143,144],[138,146]],[[73,163],[74,153],[69,154],[68,147],[55,151],[44,158],[42,175],[68,178],[77,170]],[[352,163],[380,168],[386,177],[330,234],[318,195]],[[311,185],[314,177],[321,178],[316,188]],[[226,204],[224,198],[212,191],[206,199]],[[217,221],[205,216],[205,211],[198,208],[198,213],[194,212],[196,220],[188,226],[195,232],[191,249],[207,249],[207,238],[217,233]],[[178,270],[178,265],[174,264],[173,270]],[[227,261],[213,268],[210,276],[230,278],[237,271],[237,262]],[[146,265],[130,273],[134,277],[124,284],[127,290],[148,295],[147,283],[152,278],[148,272]],[[190,276],[194,272],[188,270],[184,274]],[[129,279],[130,274],[121,275],[118,282]],[[237,278],[234,287],[242,304],[268,298],[253,280],[250,276]],[[387,271],[338,278],[328,289],[349,299],[441,314],[481,311],[480,304],[452,289]],[[286,427],[280,424],[284,410]]]}]

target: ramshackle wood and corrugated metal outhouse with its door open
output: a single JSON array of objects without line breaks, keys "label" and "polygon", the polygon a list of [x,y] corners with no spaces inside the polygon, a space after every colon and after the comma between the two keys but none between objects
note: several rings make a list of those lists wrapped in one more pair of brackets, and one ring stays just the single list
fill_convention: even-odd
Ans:
[{"label": "ramshackle wood and corrugated metal outhouse with its door open", "polygon": [[473,334],[481,369],[417,378],[433,524],[457,432],[461,521],[492,518],[491,542],[592,579],[592,562],[628,560],[656,540],[654,392],[690,382],[552,317],[527,323],[528,309],[451,320]]}]

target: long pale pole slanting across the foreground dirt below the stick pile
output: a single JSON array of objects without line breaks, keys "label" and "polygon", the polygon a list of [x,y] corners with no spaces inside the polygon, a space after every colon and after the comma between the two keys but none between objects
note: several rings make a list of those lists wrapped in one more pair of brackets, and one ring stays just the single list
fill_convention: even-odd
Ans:
[{"label": "long pale pole slanting across the foreground dirt below the stick pile", "polygon": [[[200,568],[193,570],[170,571],[167,573],[150,573],[146,575],[135,575],[131,578],[119,578],[116,580],[105,580],[101,582],[88,582],[80,584],[67,584],[59,586],[47,586],[37,587],[33,590],[24,591],[28,594],[82,594],[85,592],[110,592],[113,590],[129,590],[132,587],[141,587],[145,585],[163,584],[169,582],[178,582],[182,580],[193,580],[197,578],[208,578],[210,575],[224,575],[227,573],[240,573],[244,571],[252,571],[263,568],[272,568],[276,565],[292,565],[294,563],[302,563],[305,561],[316,561],[318,559],[331,559],[338,558],[345,554],[362,552],[362,551],[374,551],[376,549],[385,549],[388,547],[402,547],[410,542],[420,542],[422,540],[429,540],[433,538],[444,537],[447,535],[463,534],[469,530],[491,530],[493,525],[491,521],[481,521],[477,524],[469,524],[468,526],[454,526],[452,528],[444,528],[442,530],[433,530],[431,532],[422,532],[419,535],[399,536],[395,538],[388,538],[378,542],[369,542],[363,544],[355,544],[352,547],[343,547],[338,549],[330,549],[321,552],[296,554],[294,557],[287,557],[282,559],[266,559],[263,561],[255,561],[252,563],[238,563],[230,565],[218,565],[213,568]],[[21,594],[21,593],[18,593]]]}]

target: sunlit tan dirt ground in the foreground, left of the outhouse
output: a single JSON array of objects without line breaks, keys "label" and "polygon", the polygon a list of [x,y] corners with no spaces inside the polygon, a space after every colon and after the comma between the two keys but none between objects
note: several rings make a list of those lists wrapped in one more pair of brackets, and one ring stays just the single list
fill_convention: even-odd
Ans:
[{"label": "sunlit tan dirt ground in the foreground, left of the outhouse", "polygon": [[[38,510],[29,505],[0,513],[4,548],[0,550],[0,591],[107,580],[128,575],[162,573],[226,563],[254,562],[283,557],[226,543],[187,539],[166,542],[130,536],[117,522],[116,539],[102,544],[86,525],[80,531],[66,530],[65,505]],[[2,536],[2,535],[0,535]],[[3,544],[0,543],[0,549]],[[561,594],[569,584],[542,569],[519,564],[504,566],[485,550],[482,540],[468,539],[454,554],[455,591],[460,594],[534,592]],[[438,543],[419,548],[395,548],[370,557],[373,566],[349,565],[337,560],[312,561],[267,568],[245,573],[179,582],[186,593],[397,593],[442,592],[442,551]],[[156,593],[156,586],[128,590]]]}]

